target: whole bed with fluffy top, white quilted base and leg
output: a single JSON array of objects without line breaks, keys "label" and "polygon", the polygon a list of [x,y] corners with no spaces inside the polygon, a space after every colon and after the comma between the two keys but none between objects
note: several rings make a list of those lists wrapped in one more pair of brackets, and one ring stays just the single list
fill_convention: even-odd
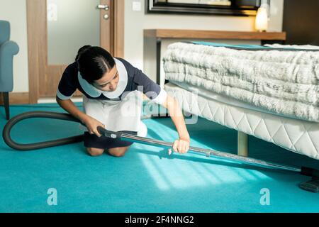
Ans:
[{"label": "whole bed with fluffy top, white quilted base and leg", "polygon": [[184,111],[319,160],[319,51],[315,46],[173,43],[164,89]]}]

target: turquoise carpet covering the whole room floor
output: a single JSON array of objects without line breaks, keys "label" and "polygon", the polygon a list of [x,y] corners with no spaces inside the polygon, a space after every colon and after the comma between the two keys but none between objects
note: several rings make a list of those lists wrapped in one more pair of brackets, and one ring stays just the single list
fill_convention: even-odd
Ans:
[{"label": "turquoise carpet covering the whole room floor", "polygon": [[[77,104],[82,109],[81,104]],[[60,111],[56,104],[11,106],[26,111]],[[177,138],[169,118],[145,120],[148,137]],[[6,123],[0,109],[0,128]],[[21,143],[81,133],[78,123],[28,119],[12,136]],[[191,145],[235,153],[237,132],[199,118],[189,125]],[[1,130],[2,131],[2,130]],[[319,167],[319,161],[250,136],[250,156],[290,165]],[[0,140],[1,212],[318,212],[319,194],[298,188],[308,177],[204,155],[167,155],[162,148],[133,144],[125,157],[90,157],[83,143],[15,151]],[[49,206],[48,189],[57,190]],[[263,205],[269,192],[269,205]]]}]

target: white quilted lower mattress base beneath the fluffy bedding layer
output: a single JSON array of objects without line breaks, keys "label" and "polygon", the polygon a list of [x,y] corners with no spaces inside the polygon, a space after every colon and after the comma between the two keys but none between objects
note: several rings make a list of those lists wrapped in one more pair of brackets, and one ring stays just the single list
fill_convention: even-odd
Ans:
[{"label": "white quilted lower mattress base beneath the fluffy bedding layer", "polygon": [[172,83],[164,89],[191,114],[319,160],[319,123],[267,113],[207,90],[196,95]]}]

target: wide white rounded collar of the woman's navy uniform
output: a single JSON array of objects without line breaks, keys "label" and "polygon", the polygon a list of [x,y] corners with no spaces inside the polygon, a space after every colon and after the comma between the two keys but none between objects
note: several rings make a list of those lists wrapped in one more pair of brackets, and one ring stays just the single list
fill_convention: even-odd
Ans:
[{"label": "wide white rounded collar of the woman's navy uniform", "polygon": [[108,99],[115,99],[124,92],[126,85],[128,84],[128,72],[126,71],[125,66],[120,60],[117,60],[116,58],[114,58],[114,60],[116,62],[116,68],[120,76],[120,79],[118,80],[118,87],[116,87],[116,90],[113,92],[101,91],[93,85],[89,84],[89,82],[87,82],[85,79],[83,79],[82,75],[79,72],[77,74],[77,78],[79,79],[79,84],[81,85],[84,92],[86,92],[86,94],[89,94],[89,96],[94,98],[99,97],[101,94],[103,94],[103,96],[106,96]]}]

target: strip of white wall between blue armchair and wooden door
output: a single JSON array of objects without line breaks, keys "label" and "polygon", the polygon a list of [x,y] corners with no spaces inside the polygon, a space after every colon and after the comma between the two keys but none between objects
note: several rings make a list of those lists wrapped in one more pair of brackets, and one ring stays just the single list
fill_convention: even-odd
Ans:
[{"label": "strip of white wall between blue armchair and wooden door", "polygon": [[28,92],[26,0],[0,0],[0,20],[11,24],[11,40],[20,51],[13,57],[13,92]]}]

